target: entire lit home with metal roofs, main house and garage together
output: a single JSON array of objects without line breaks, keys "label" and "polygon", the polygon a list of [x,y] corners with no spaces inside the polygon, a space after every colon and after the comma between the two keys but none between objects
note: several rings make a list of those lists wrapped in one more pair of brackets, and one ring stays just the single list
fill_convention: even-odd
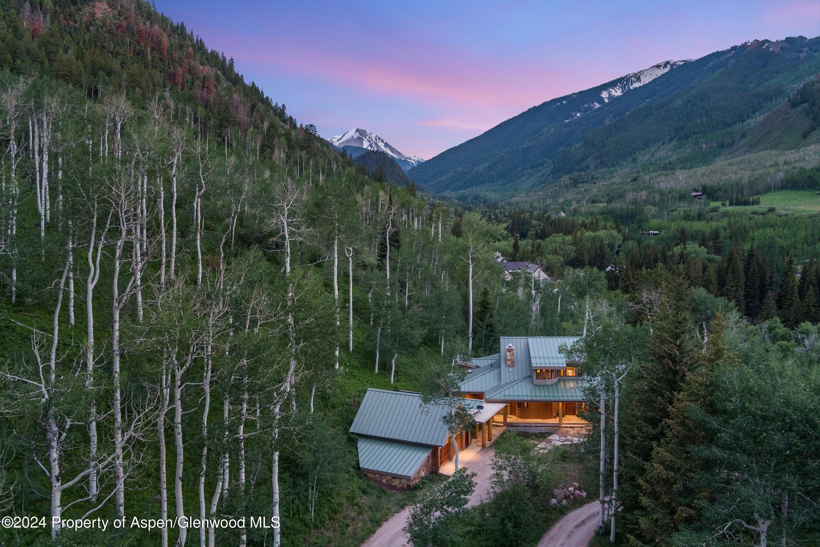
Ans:
[{"label": "entire lit home with metal roofs, main house and garage together", "polygon": [[[581,367],[558,351],[575,336],[503,336],[499,353],[470,361],[460,402],[471,408],[474,431],[457,435],[458,449],[493,440],[499,427],[587,425]],[[359,467],[373,481],[408,488],[455,455],[442,418],[444,404],[424,405],[421,394],[368,389],[350,432],[358,436]]]}]

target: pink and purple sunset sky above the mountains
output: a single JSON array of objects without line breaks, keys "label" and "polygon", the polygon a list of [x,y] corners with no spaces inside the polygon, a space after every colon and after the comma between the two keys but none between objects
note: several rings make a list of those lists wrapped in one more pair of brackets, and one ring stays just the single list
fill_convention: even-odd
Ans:
[{"label": "pink and purple sunset sky above the mountains", "polygon": [[820,35],[820,0],[157,7],[326,139],[361,127],[425,159],[550,98],[667,59]]}]

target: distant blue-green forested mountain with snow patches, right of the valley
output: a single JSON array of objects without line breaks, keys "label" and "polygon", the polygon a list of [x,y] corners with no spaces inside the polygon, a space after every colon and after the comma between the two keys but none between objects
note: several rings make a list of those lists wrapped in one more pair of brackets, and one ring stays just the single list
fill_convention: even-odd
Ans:
[{"label": "distant blue-green forested mountain with snow patches, right of the valley", "polygon": [[673,66],[604,103],[613,80],[522,112],[411,175],[435,192],[516,194],[574,171],[652,163],[653,147],[669,143],[684,153],[708,149],[689,160],[709,162],[820,72],[818,51],[820,39],[755,40]]}]

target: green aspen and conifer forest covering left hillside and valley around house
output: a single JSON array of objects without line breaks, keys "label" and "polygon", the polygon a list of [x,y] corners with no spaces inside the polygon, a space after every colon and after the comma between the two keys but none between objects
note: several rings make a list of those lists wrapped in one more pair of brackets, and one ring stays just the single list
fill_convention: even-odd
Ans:
[{"label": "green aspen and conifer forest covering left hillside and valley around house", "polygon": [[[46,522],[0,544],[360,545],[421,502],[413,545],[535,545],[574,473],[615,508],[601,545],[817,545],[820,212],[766,199],[817,195],[818,166],[453,201],[339,155],[148,2],[0,2],[0,43],[0,513]],[[818,89],[789,106],[814,124]],[[584,335],[583,448],[508,435],[518,474],[451,513],[441,478],[368,481],[367,388],[429,392],[499,335]],[[51,526],[182,515],[281,526]]]}]

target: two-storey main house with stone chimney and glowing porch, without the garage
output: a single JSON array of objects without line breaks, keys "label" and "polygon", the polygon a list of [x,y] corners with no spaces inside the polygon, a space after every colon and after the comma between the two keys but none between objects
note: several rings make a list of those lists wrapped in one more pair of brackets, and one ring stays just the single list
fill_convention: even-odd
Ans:
[{"label": "two-storey main house with stone chimney and glowing porch, without the garage", "polygon": [[[585,426],[580,363],[567,362],[561,346],[576,336],[502,336],[499,353],[475,358],[461,383],[465,397],[504,403],[505,426]],[[489,363],[489,364],[487,364]]]}]

